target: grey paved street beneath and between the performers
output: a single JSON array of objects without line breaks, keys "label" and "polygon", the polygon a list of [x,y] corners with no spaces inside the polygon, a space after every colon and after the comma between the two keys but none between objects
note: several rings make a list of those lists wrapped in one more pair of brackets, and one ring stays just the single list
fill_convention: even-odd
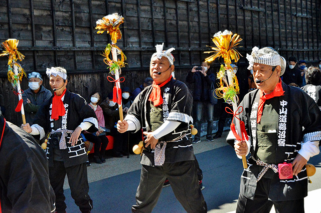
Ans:
[{"label": "grey paved street beneath and between the performers", "polygon": [[[239,193],[240,175],[243,170],[233,148],[227,146],[225,137],[208,142],[204,138],[201,143],[194,144],[196,157],[203,170],[202,191],[211,213],[233,213]],[[311,177],[308,197],[305,199],[306,213],[320,213],[321,204],[321,155],[310,159],[317,168],[316,174]],[[125,213],[131,212],[130,207],[135,203],[135,192],[139,183],[140,164],[139,155],[130,155],[129,158],[110,158],[106,163],[88,167],[89,195],[94,201],[93,213]],[[67,182],[67,181],[65,181]],[[68,184],[65,184],[67,212],[79,212],[70,196]],[[185,212],[175,198],[172,188],[165,187],[158,199],[154,213]],[[273,210],[271,211],[273,212]]]}]

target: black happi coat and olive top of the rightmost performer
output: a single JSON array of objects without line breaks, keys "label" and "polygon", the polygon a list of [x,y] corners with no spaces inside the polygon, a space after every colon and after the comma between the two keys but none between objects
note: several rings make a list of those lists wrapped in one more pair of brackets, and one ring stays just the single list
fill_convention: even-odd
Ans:
[{"label": "black happi coat and olive top of the rightmost performer", "polygon": [[[283,206],[283,209],[278,209],[279,212],[304,212],[301,211],[301,199],[307,195],[305,167],[292,179],[280,179],[278,173],[272,169],[267,169],[266,173],[261,175],[264,166],[255,162],[258,158],[264,158],[261,160],[268,161],[268,164],[291,163],[301,149],[301,141],[302,146],[305,146],[304,143],[321,139],[321,113],[315,102],[299,88],[287,86],[282,82],[282,89],[284,95],[265,100],[259,123],[257,116],[260,90],[248,93],[240,104],[243,111],[239,117],[250,136],[251,157],[248,159],[248,169],[244,169],[241,176],[236,212],[265,212],[263,209],[252,210],[258,210],[263,203],[269,206],[271,201],[275,207]],[[234,140],[228,142],[234,147]],[[307,160],[310,157],[304,156],[303,152],[300,154]],[[263,203],[259,201],[260,197],[263,197]],[[254,201],[251,201],[253,199]],[[280,204],[289,200],[296,202]],[[288,208],[284,207],[285,203],[289,204]],[[296,211],[291,211],[293,205]]]}]

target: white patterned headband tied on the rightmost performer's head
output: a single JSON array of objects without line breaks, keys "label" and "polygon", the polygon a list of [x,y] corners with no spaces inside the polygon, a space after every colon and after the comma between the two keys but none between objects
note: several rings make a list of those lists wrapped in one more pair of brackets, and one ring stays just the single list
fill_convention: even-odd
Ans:
[{"label": "white patterned headband tied on the rightmost performer's head", "polygon": [[280,67],[282,67],[282,61],[281,61],[282,59],[281,59],[280,55],[270,56],[268,54],[265,54],[265,55],[258,57],[257,56],[258,53],[259,53],[259,48],[253,47],[251,55],[246,54],[246,59],[249,61],[249,66],[247,68],[248,70],[253,69],[254,63],[266,64],[266,65],[270,65],[273,67],[279,65]]}]

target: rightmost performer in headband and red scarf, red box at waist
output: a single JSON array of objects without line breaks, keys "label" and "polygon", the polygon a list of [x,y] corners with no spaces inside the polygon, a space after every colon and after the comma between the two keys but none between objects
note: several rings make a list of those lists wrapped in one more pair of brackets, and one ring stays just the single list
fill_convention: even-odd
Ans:
[{"label": "rightmost performer in headband and red scarf, red box at waist", "polygon": [[319,153],[320,110],[304,91],[281,81],[286,62],[274,49],[254,47],[246,58],[258,89],[245,95],[238,112],[249,139],[234,141],[233,134],[227,138],[239,157],[251,153],[236,212],[270,212],[274,205],[279,213],[302,213],[307,195],[304,165]]}]

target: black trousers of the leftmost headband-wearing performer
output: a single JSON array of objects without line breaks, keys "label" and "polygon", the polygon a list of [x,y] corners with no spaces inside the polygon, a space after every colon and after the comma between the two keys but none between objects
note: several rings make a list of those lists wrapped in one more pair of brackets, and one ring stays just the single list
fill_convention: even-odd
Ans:
[{"label": "black trousers of the leftmost headband-wearing performer", "polygon": [[76,205],[79,206],[81,212],[90,212],[92,209],[92,199],[88,195],[89,185],[86,163],[65,168],[63,161],[54,160],[54,166],[49,167],[49,178],[56,195],[57,213],[65,213],[67,208],[63,188],[66,174],[71,196],[75,200]]}]

